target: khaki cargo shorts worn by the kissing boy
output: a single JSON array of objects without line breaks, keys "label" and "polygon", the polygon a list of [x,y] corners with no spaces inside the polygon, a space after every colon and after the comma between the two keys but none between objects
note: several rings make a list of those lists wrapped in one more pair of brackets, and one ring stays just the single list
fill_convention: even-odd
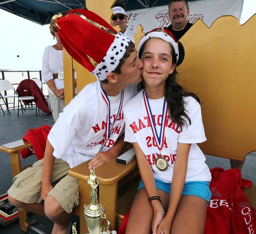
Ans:
[{"label": "khaki cargo shorts worn by the kissing boy", "polygon": [[[35,162],[30,168],[20,172],[13,178],[13,185],[7,191],[10,196],[25,203],[40,203],[41,180],[44,159]],[[79,205],[79,181],[67,175],[70,169],[67,162],[56,159],[52,170],[51,183],[60,180],[48,193],[53,196],[61,207],[71,213]]]}]

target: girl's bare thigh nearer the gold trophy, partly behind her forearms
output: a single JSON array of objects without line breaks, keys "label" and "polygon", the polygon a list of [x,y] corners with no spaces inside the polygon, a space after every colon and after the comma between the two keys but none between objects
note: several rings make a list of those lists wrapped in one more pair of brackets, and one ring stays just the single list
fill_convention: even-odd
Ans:
[{"label": "girl's bare thigh nearer the gold trophy, partly behind her forearms", "polygon": [[[163,208],[166,211],[169,205],[170,195],[157,189],[157,195],[161,197]],[[153,208],[148,199],[145,187],[138,190],[132,202],[131,212],[127,224],[126,234],[148,234],[152,233]]]}]

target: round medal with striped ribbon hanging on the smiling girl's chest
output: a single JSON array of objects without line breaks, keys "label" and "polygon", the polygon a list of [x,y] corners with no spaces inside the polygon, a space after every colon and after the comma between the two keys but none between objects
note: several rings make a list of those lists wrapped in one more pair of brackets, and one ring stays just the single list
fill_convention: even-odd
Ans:
[{"label": "round medal with striped ribbon hanging on the smiling girl's chest", "polygon": [[168,106],[167,106],[166,100],[164,98],[160,133],[158,135],[157,130],[156,130],[156,124],[155,124],[155,121],[154,121],[154,118],[152,115],[152,111],[150,108],[150,104],[148,101],[148,97],[147,97],[147,94],[145,91],[143,92],[143,98],[144,98],[145,108],[147,111],[147,116],[151,123],[151,131],[153,133],[154,139],[156,140],[157,148],[160,151],[160,155],[159,155],[159,157],[157,157],[157,159],[155,161],[155,165],[158,170],[164,171],[164,170],[167,170],[167,168],[168,168],[168,162],[167,162],[166,158],[161,155],[161,150],[163,148],[163,143],[164,143],[164,130],[165,130],[165,126],[166,126]]}]

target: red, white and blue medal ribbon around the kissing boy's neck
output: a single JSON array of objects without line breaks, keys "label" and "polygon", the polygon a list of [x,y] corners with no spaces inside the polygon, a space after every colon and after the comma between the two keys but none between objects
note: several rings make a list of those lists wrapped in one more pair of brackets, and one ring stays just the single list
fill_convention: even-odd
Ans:
[{"label": "red, white and blue medal ribbon around the kissing boy's neck", "polygon": [[100,91],[101,91],[102,98],[108,107],[106,130],[105,130],[105,140],[108,140],[111,135],[111,130],[113,129],[113,127],[115,125],[116,119],[118,118],[119,114],[122,113],[123,102],[124,102],[124,90],[122,90],[122,96],[121,96],[118,112],[117,112],[116,116],[114,117],[115,119],[112,123],[111,128],[110,128],[110,101],[109,101],[108,95],[106,94],[105,90],[103,90],[101,83],[100,83]]}]

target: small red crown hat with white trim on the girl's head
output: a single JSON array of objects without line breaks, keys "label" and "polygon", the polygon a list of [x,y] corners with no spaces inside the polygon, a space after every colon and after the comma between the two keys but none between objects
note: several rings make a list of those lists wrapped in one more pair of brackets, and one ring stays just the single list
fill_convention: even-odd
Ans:
[{"label": "small red crown hat with white trim on the girl's head", "polygon": [[141,46],[150,38],[160,38],[162,40],[165,40],[166,42],[169,42],[174,48],[177,63],[179,59],[179,49],[177,47],[173,34],[167,29],[156,28],[151,30],[150,32],[145,33],[145,35],[140,39],[140,42],[138,44],[138,53],[140,52]]}]

